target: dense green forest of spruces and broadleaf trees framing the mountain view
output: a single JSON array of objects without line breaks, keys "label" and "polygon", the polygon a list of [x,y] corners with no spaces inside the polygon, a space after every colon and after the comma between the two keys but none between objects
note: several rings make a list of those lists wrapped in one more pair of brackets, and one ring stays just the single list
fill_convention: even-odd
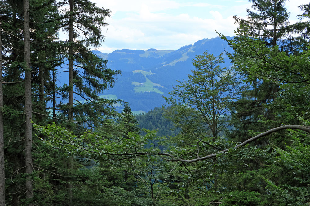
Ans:
[{"label": "dense green forest of spruces and broadleaf trees framing the mountain view", "polygon": [[90,50],[109,9],[1,1],[0,205],[309,205],[310,4],[290,24],[286,0],[249,2],[231,50],[134,116],[98,95],[121,74]]}]

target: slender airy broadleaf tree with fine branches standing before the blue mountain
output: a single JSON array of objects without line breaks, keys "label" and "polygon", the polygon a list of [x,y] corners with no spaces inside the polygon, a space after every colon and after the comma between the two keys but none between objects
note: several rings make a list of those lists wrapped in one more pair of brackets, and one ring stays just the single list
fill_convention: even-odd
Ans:
[{"label": "slender airy broadleaf tree with fine branches standing before the blue mountain", "polygon": [[185,144],[209,137],[214,140],[228,127],[232,103],[243,90],[241,79],[232,69],[222,68],[222,54],[215,57],[204,52],[193,60],[196,67],[184,82],[173,87],[166,103],[172,106],[166,116],[182,129]]}]

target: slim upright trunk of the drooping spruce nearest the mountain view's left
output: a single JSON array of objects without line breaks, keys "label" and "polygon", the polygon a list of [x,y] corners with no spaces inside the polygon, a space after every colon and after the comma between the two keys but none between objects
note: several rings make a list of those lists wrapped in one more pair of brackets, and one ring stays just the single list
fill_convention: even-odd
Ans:
[{"label": "slim upright trunk of the drooping spruce nearest the mountain view's left", "polygon": [[69,17],[69,101],[70,107],[68,119],[73,120],[73,0],[69,0],[70,17]]}]

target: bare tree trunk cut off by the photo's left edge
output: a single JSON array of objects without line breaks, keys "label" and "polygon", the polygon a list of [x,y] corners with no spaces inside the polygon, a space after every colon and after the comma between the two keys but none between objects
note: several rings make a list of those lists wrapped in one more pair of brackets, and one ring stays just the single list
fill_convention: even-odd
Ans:
[{"label": "bare tree trunk cut off by the photo's left edge", "polygon": [[0,25],[0,73],[1,73],[0,75],[0,205],[5,205],[1,25]]}]

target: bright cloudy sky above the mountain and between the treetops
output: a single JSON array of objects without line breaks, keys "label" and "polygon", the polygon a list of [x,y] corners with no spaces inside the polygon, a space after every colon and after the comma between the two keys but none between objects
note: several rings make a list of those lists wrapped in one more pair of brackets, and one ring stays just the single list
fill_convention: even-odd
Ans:
[{"label": "bright cloudy sky above the mountain and between the treetops", "polygon": [[[204,38],[217,37],[217,32],[233,36],[237,25],[233,16],[246,18],[247,0],[91,0],[111,10],[103,27],[105,41],[94,48],[105,53],[117,49],[155,48],[175,50]],[[290,23],[298,21],[297,6],[309,0],[286,1]]]}]

